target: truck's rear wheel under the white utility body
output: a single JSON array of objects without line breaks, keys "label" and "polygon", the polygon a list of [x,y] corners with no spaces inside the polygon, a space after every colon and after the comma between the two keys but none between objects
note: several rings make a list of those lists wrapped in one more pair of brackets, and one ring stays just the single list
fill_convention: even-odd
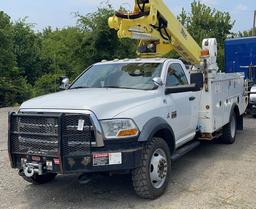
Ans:
[{"label": "truck's rear wheel under the white utility body", "polygon": [[230,121],[223,127],[223,135],[221,141],[224,144],[233,144],[236,140],[237,118],[235,112],[232,112]]}]

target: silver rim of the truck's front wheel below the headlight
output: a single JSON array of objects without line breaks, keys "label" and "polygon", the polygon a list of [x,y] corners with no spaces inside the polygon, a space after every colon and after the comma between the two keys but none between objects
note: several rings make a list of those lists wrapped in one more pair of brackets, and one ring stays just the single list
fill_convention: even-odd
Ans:
[{"label": "silver rim of the truck's front wheel below the headlight", "polygon": [[152,186],[156,189],[161,188],[166,180],[168,172],[168,162],[164,150],[159,148],[153,153],[149,171]]}]

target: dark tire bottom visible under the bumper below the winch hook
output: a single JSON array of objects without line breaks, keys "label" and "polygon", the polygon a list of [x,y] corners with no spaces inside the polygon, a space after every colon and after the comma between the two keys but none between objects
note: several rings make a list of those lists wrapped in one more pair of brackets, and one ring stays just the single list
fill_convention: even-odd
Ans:
[{"label": "dark tire bottom visible under the bumper below the winch hook", "polygon": [[32,177],[26,177],[24,174],[21,174],[21,177],[25,181],[35,185],[46,184],[48,182],[51,182],[55,179],[56,176],[57,176],[56,173],[47,173],[40,176],[35,174]]}]

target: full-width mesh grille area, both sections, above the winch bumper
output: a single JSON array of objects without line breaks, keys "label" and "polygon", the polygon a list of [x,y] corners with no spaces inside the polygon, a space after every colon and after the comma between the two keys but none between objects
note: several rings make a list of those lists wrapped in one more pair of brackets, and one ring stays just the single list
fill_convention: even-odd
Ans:
[{"label": "full-width mesh grille area, both sections, above the winch bumper", "polygon": [[12,154],[84,156],[95,142],[90,115],[12,114]]}]

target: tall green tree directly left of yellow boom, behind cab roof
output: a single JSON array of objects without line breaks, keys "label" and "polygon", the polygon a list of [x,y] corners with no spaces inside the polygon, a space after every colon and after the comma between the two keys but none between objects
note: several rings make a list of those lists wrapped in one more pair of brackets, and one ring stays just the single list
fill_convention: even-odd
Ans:
[{"label": "tall green tree directly left of yellow boom, behind cab roof", "polygon": [[95,13],[78,16],[78,26],[84,32],[80,55],[84,65],[91,65],[103,59],[130,58],[136,56],[133,40],[120,40],[116,31],[107,25],[108,18],[114,15],[111,6],[99,8]]}]

